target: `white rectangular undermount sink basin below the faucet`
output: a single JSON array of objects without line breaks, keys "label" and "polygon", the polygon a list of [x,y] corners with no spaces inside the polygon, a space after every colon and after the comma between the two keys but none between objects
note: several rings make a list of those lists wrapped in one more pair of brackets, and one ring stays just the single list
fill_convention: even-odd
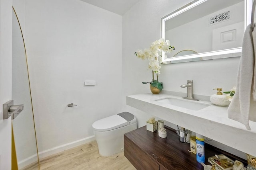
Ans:
[{"label": "white rectangular undermount sink basin below the faucet", "polygon": [[211,106],[210,104],[201,103],[199,101],[187,100],[187,99],[176,99],[176,98],[161,98],[156,99],[155,101],[161,102],[164,104],[170,104],[173,106],[183,107],[190,110],[201,110],[205,107]]}]

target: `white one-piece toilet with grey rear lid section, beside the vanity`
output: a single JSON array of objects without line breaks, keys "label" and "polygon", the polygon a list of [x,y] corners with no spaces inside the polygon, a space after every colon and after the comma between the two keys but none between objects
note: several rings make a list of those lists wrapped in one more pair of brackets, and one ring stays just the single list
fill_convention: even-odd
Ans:
[{"label": "white one-piece toilet with grey rear lid section, beside the vanity", "polygon": [[137,129],[137,121],[129,112],[112,115],[92,124],[101,156],[111,156],[124,150],[124,133]]}]

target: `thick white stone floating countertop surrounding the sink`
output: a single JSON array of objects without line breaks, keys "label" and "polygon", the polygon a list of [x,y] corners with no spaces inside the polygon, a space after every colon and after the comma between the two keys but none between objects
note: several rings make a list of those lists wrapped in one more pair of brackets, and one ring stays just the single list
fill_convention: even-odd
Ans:
[{"label": "thick white stone floating countertop surrounding the sink", "polygon": [[216,106],[208,101],[198,101],[210,105],[198,111],[155,101],[166,97],[182,99],[165,93],[136,94],[127,96],[126,104],[256,156],[256,122],[249,122],[252,129],[249,131],[242,123],[228,118],[228,106]]}]

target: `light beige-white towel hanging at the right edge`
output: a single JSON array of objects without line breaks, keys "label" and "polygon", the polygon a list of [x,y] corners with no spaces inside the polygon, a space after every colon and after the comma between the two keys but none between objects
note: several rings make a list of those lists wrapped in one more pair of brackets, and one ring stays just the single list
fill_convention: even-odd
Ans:
[{"label": "light beige-white towel hanging at the right edge", "polygon": [[[253,40],[255,43],[253,43]],[[228,117],[243,123],[248,130],[251,130],[249,120],[256,121],[256,100],[253,100],[254,95],[252,95],[253,90],[256,89],[256,84],[254,83],[256,78],[254,74],[255,57],[253,44],[256,45],[256,33],[255,31],[252,33],[251,25],[248,25],[244,32],[242,43],[236,92],[228,107]]]}]

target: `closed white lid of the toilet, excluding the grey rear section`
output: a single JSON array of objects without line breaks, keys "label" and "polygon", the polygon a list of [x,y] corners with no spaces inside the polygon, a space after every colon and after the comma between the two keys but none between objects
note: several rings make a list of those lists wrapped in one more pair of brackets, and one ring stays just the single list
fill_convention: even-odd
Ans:
[{"label": "closed white lid of the toilet, excluding the grey rear section", "polygon": [[92,127],[95,131],[110,131],[119,127],[126,126],[128,121],[122,118],[120,115],[112,115],[100,120],[95,121]]}]

